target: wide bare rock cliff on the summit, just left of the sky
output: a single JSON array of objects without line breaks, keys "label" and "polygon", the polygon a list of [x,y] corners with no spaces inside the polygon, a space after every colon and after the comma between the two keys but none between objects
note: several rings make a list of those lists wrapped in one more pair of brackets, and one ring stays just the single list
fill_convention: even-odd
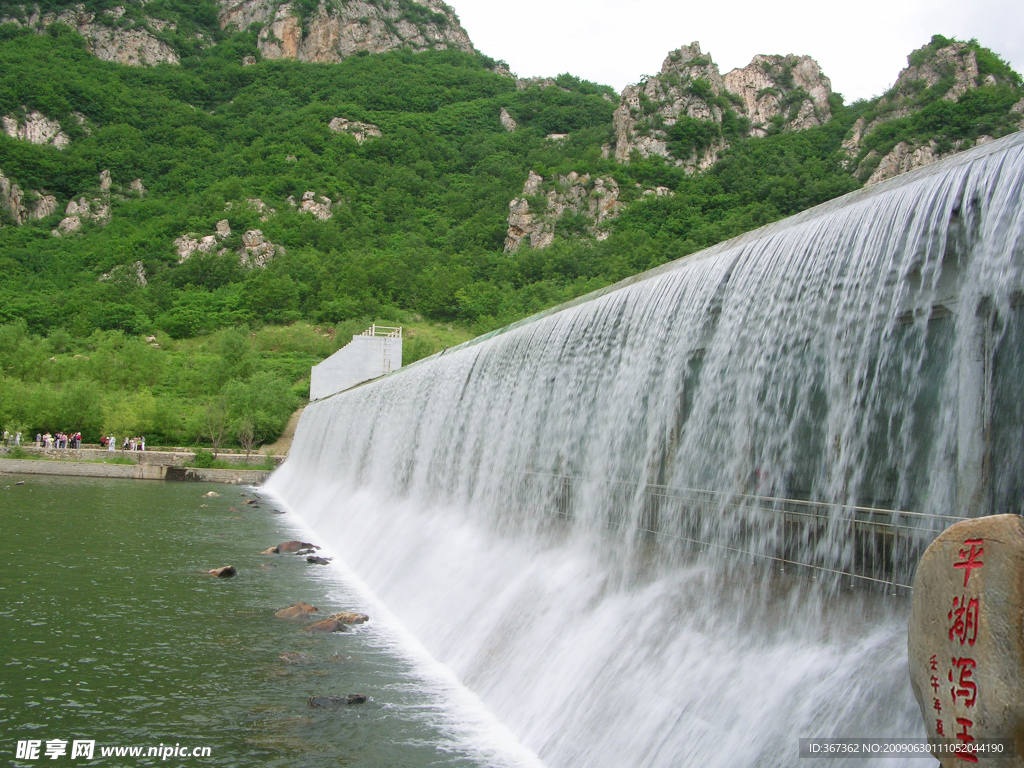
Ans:
[{"label": "wide bare rock cliff on the summit, just left of the sky", "polygon": [[220,0],[220,26],[247,30],[262,25],[258,45],[264,58],[340,61],[360,51],[398,48],[473,51],[452,8],[439,0],[413,2],[322,0],[315,13],[300,18],[290,2]]}]

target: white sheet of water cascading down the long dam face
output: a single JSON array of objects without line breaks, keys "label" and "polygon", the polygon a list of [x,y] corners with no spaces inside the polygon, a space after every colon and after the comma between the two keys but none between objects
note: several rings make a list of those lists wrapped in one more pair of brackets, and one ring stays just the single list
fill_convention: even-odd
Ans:
[{"label": "white sheet of water cascading down the long dam face", "polygon": [[269,487],[552,768],[923,735],[889,593],[1021,508],[1022,193],[1017,134],[434,355]]}]

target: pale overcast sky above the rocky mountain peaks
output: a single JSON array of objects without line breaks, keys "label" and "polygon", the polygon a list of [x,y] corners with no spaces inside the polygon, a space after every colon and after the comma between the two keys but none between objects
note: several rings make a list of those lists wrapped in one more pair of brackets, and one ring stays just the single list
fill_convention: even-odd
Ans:
[{"label": "pale overcast sky above the rocky mountain peaks", "polygon": [[724,75],[756,53],[817,59],[846,100],[880,95],[940,34],[978,38],[1024,72],[1024,0],[447,0],[477,49],[519,77],[568,72],[621,91],[697,40]]}]

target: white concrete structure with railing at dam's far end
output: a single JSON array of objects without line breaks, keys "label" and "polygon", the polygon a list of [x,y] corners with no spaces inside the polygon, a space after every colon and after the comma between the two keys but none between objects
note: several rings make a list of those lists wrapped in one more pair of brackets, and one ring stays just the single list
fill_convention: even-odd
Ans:
[{"label": "white concrete structure with railing at dam's far end", "polygon": [[401,329],[371,326],[317,366],[309,399],[318,400],[401,368]]}]

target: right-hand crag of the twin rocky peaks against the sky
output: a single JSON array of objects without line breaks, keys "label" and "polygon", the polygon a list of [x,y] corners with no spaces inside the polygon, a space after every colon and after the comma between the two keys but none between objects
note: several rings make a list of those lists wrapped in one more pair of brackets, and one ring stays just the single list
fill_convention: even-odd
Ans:
[{"label": "right-hand crag of the twin rocky peaks against the sky", "polygon": [[764,136],[777,122],[799,131],[823,125],[831,117],[831,82],[810,56],[763,56],[723,78],[725,87],[742,100],[751,135]]}]

